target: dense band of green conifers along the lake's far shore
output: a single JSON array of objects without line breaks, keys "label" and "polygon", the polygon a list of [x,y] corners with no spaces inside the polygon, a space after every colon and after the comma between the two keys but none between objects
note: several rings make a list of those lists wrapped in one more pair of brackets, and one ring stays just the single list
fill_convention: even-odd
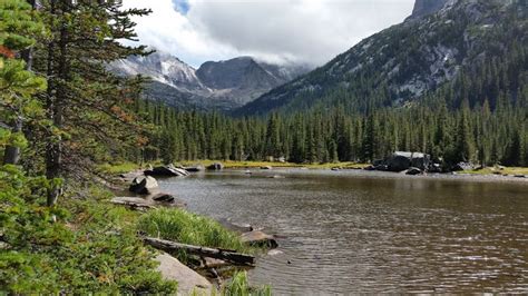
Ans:
[{"label": "dense band of green conifers along the lake's far shore", "polygon": [[[344,103],[267,117],[231,118],[218,112],[178,111],[136,100],[135,109],[159,127],[141,149],[125,152],[136,161],[197,159],[293,162],[372,161],[397,150],[423,151],[451,166],[528,166],[527,59],[499,63],[481,76],[465,75],[421,101],[401,108],[351,110]],[[516,67],[511,70],[508,67]],[[516,73],[516,91],[503,73]],[[487,81],[487,82],[485,82]],[[482,99],[485,98],[485,99]],[[346,98],[343,98],[343,100]]]}]

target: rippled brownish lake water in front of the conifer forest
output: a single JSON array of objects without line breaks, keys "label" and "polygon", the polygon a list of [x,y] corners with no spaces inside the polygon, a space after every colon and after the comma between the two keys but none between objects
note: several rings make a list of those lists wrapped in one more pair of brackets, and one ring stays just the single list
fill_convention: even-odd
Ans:
[{"label": "rippled brownish lake water in front of the conifer forest", "polygon": [[275,294],[528,293],[528,181],[297,169],[160,187],[280,235],[282,254],[250,272]]}]

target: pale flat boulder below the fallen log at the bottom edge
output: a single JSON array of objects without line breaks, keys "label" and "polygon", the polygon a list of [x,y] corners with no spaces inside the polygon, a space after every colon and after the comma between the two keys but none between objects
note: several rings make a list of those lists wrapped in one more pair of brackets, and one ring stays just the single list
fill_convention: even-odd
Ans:
[{"label": "pale flat boulder below the fallen log at the bottom edge", "polygon": [[178,294],[209,295],[213,285],[202,275],[183,265],[178,259],[163,253],[155,258],[159,263],[156,268],[164,279],[178,282]]}]

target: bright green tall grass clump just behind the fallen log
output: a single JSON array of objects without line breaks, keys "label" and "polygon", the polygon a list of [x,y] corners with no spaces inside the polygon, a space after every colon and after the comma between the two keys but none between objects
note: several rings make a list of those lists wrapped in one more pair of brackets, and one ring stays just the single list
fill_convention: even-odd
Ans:
[{"label": "bright green tall grass clump just behind the fallen log", "polygon": [[236,233],[219,223],[183,209],[157,209],[139,218],[140,231],[163,239],[205,247],[252,253]]}]

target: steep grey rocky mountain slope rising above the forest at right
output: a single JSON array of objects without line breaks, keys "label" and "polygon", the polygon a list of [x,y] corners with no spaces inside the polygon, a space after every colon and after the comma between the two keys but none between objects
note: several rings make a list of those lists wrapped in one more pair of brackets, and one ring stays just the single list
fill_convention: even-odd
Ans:
[{"label": "steep grey rocky mountain slope rising above the forest at right", "polygon": [[520,55],[514,52],[522,53],[528,48],[527,2],[417,0],[413,14],[402,23],[364,39],[323,67],[237,109],[235,115],[338,103],[361,112],[413,105],[462,76],[483,77],[482,72],[496,69],[499,61]]}]

